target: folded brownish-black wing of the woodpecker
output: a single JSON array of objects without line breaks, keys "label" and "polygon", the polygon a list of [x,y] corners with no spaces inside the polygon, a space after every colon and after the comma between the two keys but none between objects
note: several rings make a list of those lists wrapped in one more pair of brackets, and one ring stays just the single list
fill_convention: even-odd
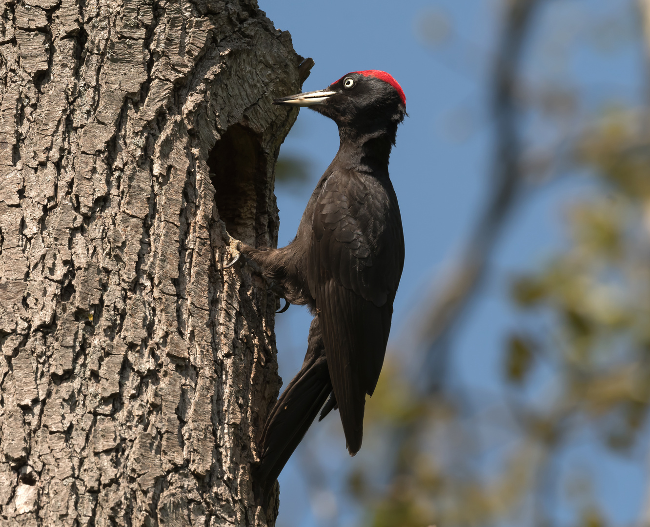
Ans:
[{"label": "folded brownish-black wing of the woodpecker", "polygon": [[379,378],[404,265],[404,236],[390,180],[331,174],[312,220],[311,296],[350,454],[361,448],[365,394]]}]

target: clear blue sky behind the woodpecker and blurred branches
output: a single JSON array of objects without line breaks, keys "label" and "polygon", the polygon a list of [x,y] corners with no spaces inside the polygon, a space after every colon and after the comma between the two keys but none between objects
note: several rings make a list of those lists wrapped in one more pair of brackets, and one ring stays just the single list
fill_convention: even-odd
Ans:
[{"label": "clear blue sky behind the woodpecker and blurred branches", "polygon": [[[583,90],[587,97],[580,103],[585,113],[617,101],[639,100],[645,89],[642,53],[632,38],[627,41],[624,36],[630,27],[633,29],[630,1],[548,5],[539,13],[527,49],[526,78],[531,82],[562,79]],[[277,28],[291,32],[300,55],[315,60],[304,91],[324,88],[348,71],[377,69],[391,73],[406,93],[409,117],[398,131],[390,165],[406,240],[406,262],[391,332],[392,348],[396,348],[396,339],[412,328],[435,280],[462,248],[485,199],[493,140],[487,85],[499,31],[500,3],[259,0],[259,6]],[[588,16],[582,17],[581,12]],[[576,20],[584,22],[576,25]],[[448,34],[447,39],[438,47],[423,42],[417,31],[422,21],[447,21],[447,33],[445,24],[439,30]],[[613,33],[612,49],[601,49],[607,45],[603,39],[590,41],[591,33],[605,34],[598,26],[603,21],[610,21],[603,27]],[[551,32],[554,38],[547,38]],[[551,47],[547,42],[558,49],[547,49]],[[534,123],[530,131],[538,133]],[[337,148],[335,124],[315,112],[300,110],[281,155],[309,159],[313,183],[300,192],[282,186],[277,189],[279,245],[294,237],[313,184]],[[454,342],[453,370],[459,382],[471,383],[479,390],[497,389],[502,344],[517,323],[506,294],[508,277],[513,271],[538,267],[562,247],[563,207],[586,192],[590,192],[590,185],[584,178],[569,175],[540,186],[519,203],[486,283],[463,317]],[[304,309],[292,306],[276,320],[279,368],[286,384],[302,363],[310,317]],[[318,426],[320,430],[314,430]],[[325,433],[325,429],[324,424],[315,424],[303,443]],[[586,440],[586,446],[574,457],[598,455],[588,443]],[[344,443],[332,448],[343,452]],[[328,485],[335,492],[315,501],[297,465],[297,459],[309,452],[309,444],[301,445],[280,476],[278,526],[329,524],[313,509],[313,504],[327,504],[327,499],[333,500],[332,507],[343,511],[342,524],[357,524],[358,511],[341,503],[337,491],[342,483],[336,479],[337,467],[350,467],[356,458],[341,456],[333,461],[328,472],[332,479],[323,492]],[[597,489],[606,512],[615,524],[632,522],[638,517],[645,487],[643,467],[621,459],[606,459],[599,466],[603,480],[609,482]],[[625,485],[619,484],[623,481]]]}]

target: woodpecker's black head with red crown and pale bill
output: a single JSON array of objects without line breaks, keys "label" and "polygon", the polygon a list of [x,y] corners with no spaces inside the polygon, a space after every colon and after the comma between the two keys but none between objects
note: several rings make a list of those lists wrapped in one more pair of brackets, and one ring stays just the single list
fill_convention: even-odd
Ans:
[{"label": "woodpecker's black head with red crown and pale bill", "polygon": [[306,106],[333,119],[339,129],[392,131],[406,115],[402,87],[385,71],[352,71],[324,90],[275,99],[276,105]]}]

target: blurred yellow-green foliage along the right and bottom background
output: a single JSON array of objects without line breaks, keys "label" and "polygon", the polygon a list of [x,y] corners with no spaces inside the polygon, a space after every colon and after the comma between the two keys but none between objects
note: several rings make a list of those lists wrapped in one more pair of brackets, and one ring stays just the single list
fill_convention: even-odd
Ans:
[{"label": "blurred yellow-green foliage along the right and bottom background", "polygon": [[504,345],[505,400],[476,415],[461,390],[427,393],[385,366],[365,427],[389,437],[382,459],[395,461],[383,479],[370,477],[373,467],[350,476],[369,525],[551,526],[556,493],[573,503],[577,525],[608,525],[590,486],[564,492],[558,470],[584,433],[634,454],[647,420],[650,136],[638,115],[608,112],[580,136],[575,162],[594,185],[565,210],[567,246],[512,279],[522,324]]}]

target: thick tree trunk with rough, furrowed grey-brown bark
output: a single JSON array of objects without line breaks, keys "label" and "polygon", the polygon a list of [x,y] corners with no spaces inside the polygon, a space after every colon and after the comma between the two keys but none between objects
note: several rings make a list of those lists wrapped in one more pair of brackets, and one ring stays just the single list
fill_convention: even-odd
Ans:
[{"label": "thick tree trunk with rough, furrowed grey-brown bark", "polygon": [[254,0],[0,15],[0,525],[273,524],[278,299],[221,220],[276,243],[291,37]]}]

